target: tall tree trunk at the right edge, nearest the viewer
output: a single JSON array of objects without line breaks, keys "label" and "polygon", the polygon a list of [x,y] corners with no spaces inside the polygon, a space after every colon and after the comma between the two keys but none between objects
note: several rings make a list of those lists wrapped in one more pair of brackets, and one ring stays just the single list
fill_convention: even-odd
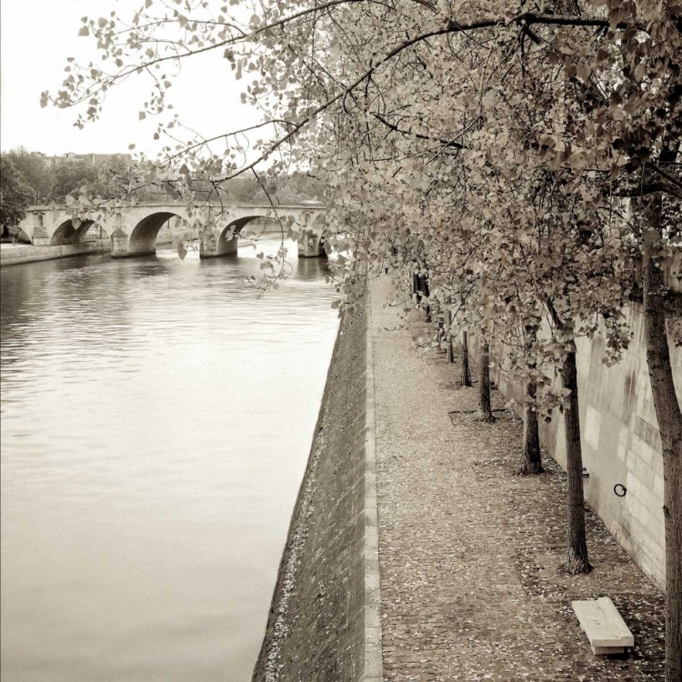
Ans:
[{"label": "tall tree trunk at the right edge, nearest the viewer", "polygon": [[682,681],[682,411],[677,402],[666,318],[663,271],[644,257],[644,329],[651,393],[663,446],[666,529],[666,682]]}]

